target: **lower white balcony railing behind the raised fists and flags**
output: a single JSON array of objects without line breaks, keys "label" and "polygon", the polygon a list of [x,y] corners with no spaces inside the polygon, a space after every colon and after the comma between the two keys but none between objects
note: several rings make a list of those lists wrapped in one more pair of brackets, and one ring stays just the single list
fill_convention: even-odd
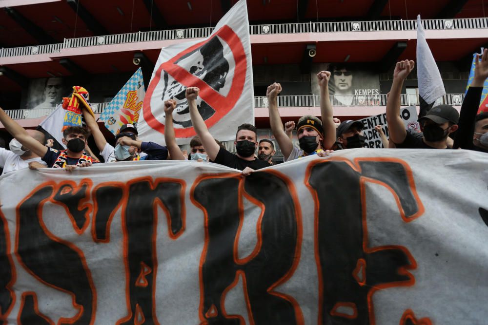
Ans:
[{"label": "lower white balcony railing behind the raised fists and flags", "polygon": [[[400,98],[402,106],[419,105],[417,96],[402,94]],[[434,105],[447,104],[459,106],[463,103],[464,94],[446,94],[439,98]],[[386,106],[386,95],[330,95],[330,102],[332,106]],[[93,103],[92,110],[95,114],[103,112],[107,103]],[[318,107],[320,106],[320,96],[318,95],[288,95],[278,96],[278,107]],[[268,107],[268,100],[265,96],[254,97],[254,107],[265,108]],[[21,110],[6,110],[5,112],[13,119],[24,118],[40,118],[51,114],[56,108],[36,108],[36,109],[21,109]]]}]

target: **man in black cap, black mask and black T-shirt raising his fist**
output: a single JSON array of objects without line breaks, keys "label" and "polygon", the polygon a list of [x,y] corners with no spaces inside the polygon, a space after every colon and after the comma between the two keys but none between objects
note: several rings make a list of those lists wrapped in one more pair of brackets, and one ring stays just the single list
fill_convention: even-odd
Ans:
[{"label": "man in black cap, black mask and black T-shirt raising his fist", "polygon": [[393,72],[390,96],[386,102],[386,122],[390,140],[397,148],[447,149],[447,137],[458,129],[459,113],[450,105],[438,105],[420,119],[424,137],[418,138],[408,133],[400,117],[400,93],[403,81],[413,70],[412,60],[400,61]]}]

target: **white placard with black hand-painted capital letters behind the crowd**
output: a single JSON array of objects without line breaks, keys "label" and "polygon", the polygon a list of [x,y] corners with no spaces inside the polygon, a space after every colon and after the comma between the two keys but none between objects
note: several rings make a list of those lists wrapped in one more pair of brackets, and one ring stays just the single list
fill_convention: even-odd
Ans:
[{"label": "white placard with black hand-painted capital letters behind the crowd", "polygon": [[[420,131],[420,124],[418,122],[417,109],[415,106],[409,106],[400,109],[400,116],[402,117],[405,127],[413,131]],[[381,125],[383,133],[389,139],[388,124],[386,123],[386,113],[365,117],[359,120],[363,123],[363,135],[366,141],[367,148],[384,148],[381,143],[380,135],[374,129],[375,126]]]}]

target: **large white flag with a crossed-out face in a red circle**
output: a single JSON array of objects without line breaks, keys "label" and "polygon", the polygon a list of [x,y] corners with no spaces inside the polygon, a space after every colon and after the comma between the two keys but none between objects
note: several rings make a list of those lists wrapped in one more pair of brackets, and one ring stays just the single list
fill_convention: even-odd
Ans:
[{"label": "large white flag with a crossed-out face in a red circle", "polygon": [[161,50],[139,117],[139,136],[164,141],[164,101],[174,99],[173,123],[178,144],[196,135],[185,98],[199,87],[197,108],[212,135],[231,140],[242,123],[254,122],[252,62],[245,1],[236,3],[203,40]]}]

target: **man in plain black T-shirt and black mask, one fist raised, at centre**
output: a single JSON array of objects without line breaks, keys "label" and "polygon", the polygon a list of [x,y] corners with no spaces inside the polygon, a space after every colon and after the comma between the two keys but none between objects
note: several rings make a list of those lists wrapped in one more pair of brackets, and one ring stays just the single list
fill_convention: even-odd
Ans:
[{"label": "man in plain black T-shirt and black mask, one fist raised, at centre", "polygon": [[251,124],[243,124],[237,129],[236,140],[234,141],[237,154],[229,153],[215,142],[197,109],[195,100],[199,93],[200,89],[198,87],[188,87],[186,88],[185,96],[190,109],[191,122],[210,160],[241,171],[246,168],[247,170],[256,170],[269,167],[267,162],[254,157],[258,143],[256,142],[256,128]]}]

